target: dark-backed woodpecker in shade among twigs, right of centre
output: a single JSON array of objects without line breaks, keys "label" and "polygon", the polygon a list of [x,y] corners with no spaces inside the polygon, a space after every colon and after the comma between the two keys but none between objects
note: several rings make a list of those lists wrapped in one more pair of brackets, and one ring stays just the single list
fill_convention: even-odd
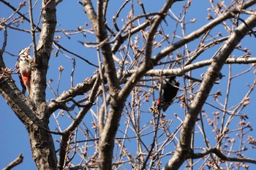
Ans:
[{"label": "dark-backed woodpecker in shade among twigs, right of centre", "polygon": [[170,104],[173,103],[178,93],[177,87],[179,87],[179,82],[176,80],[175,76],[169,76],[163,80],[162,91],[159,92],[161,93],[161,98],[157,100],[157,108],[159,110],[162,109],[162,111],[165,112],[168,107],[170,107]]}]

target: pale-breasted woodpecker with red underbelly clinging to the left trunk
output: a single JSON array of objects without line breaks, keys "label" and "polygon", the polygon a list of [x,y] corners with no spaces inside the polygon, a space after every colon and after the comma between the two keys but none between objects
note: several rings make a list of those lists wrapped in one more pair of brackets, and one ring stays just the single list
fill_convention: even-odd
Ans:
[{"label": "pale-breasted woodpecker with red underbelly clinging to the left trunk", "polygon": [[24,94],[26,93],[26,90],[28,91],[28,94],[30,92],[31,69],[29,67],[29,63],[31,61],[32,58],[30,56],[30,46],[20,50],[16,63],[16,69],[20,77],[20,84]]}]

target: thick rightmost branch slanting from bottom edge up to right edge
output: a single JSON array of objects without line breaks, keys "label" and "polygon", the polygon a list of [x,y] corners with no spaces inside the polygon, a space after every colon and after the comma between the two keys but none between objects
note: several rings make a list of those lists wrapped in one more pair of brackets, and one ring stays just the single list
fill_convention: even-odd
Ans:
[{"label": "thick rightmost branch slanting from bottom edge up to right edge", "polygon": [[184,163],[184,161],[192,154],[190,144],[195,122],[197,121],[197,115],[202,109],[206,98],[208,98],[208,94],[210,93],[211,88],[213,87],[214,82],[218,77],[220,70],[222,69],[222,66],[227,60],[227,57],[236,48],[236,45],[238,45],[241,39],[246,36],[248,31],[256,26],[256,15],[249,16],[245,22],[246,25],[242,23],[240,26],[238,26],[236,31],[233,31],[233,33],[230,34],[229,39],[227,39],[225,44],[222,46],[222,49],[219,50],[219,53],[217,53],[217,55],[214,57],[214,61],[208,68],[206,77],[203,79],[203,82],[200,85],[200,88],[197,91],[191,106],[189,107],[187,115],[185,116],[184,124],[181,128],[181,135],[179,138],[178,146],[176,147],[176,152],[165,165],[165,170],[178,169],[182,163]]}]

